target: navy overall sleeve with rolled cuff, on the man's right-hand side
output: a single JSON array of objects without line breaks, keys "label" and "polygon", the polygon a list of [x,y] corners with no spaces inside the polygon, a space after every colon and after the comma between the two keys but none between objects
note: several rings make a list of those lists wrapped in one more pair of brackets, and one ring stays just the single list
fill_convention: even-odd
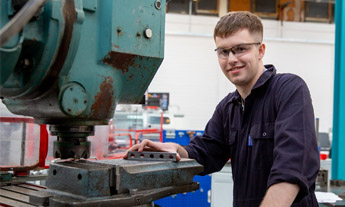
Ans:
[{"label": "navy overall sleeve with rolled cuff, on the man's right-hand side", "polygon": [[313,106],[308,87],[298,76],[281,80],[276,90],[273,166],[267,187],[297,184],[298,200],[309,194],[320,168]]}]

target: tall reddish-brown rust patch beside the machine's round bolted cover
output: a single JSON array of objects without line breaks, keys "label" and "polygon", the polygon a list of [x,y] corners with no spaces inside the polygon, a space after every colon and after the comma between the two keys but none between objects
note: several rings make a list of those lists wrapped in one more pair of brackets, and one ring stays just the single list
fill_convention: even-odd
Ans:
[{"label": "tall reddish-brown rust patch beside the machine's round bolted cover", "polygon": [[91,106],[91,116],[96,119],[104,119],[112,111],[114,102],[113,78],[106,77],[99,87],[99,92],[95,96],[95,101]]}]

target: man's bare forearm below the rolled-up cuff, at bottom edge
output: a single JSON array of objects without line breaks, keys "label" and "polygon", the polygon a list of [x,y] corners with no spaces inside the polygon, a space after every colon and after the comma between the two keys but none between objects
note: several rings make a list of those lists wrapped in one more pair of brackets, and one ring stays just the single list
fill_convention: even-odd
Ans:
[{"label": "man's bare forearm below the rolled-up cuff, at bottom edge", "polygon": [[289,207],[299,192],[299,186],[287,182],[277,183],[268,188],[260,207]]}]

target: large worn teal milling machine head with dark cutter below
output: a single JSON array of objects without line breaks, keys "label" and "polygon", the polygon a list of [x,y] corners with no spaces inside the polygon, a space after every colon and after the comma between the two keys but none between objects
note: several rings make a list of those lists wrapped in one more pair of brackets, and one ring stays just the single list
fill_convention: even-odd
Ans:
[{"label": "large worn teal milling machine head with dark cutter below", "polygon": [[0,0],[0,99],[50,125],[55,157],[88,158],[94,126],[140,103],[162,63],[166,2],[25,2]]}]

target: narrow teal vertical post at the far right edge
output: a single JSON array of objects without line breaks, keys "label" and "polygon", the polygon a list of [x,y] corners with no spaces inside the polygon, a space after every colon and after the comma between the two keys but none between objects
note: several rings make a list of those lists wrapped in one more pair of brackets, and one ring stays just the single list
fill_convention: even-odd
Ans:
[{"label": "narrow teal vertical post at the far right edge", "polygon": [[332,179],[345,180],[345,4],[335,3]]}]

